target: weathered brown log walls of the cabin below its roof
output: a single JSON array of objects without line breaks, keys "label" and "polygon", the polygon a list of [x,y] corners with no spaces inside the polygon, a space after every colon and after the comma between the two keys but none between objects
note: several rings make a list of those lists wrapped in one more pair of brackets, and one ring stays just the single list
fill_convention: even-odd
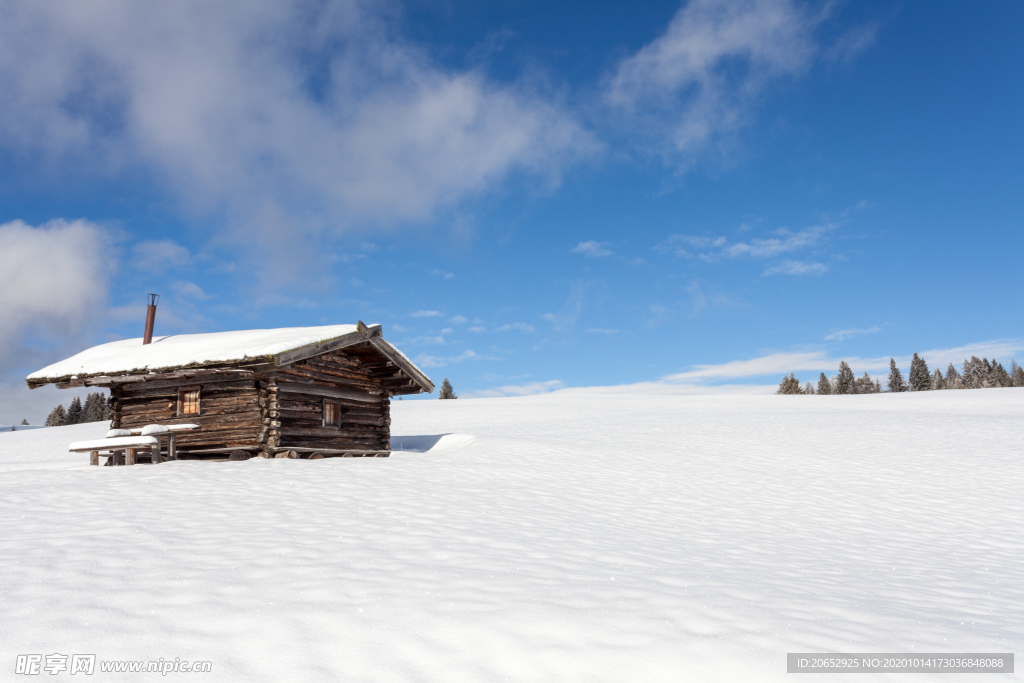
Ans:
[{"label": "weathered brown log walls of the cabin below its roof", "polygon": [[[362,348],[359,348],[362,347]],[[360,351],[362,351],[360,353]],[[390,400],[420,387],[369,344],[329,351],[284,367],[197,371],[187,377],[112,383],[114,429],[147,424],[200,425],[176,435],[179,458],[386,456]],[[199,415],[179,415],[178,393],[200,389]],[[334,424],[325,421],[325,405]],[[316,457],[316,456],[313,456]]]}]

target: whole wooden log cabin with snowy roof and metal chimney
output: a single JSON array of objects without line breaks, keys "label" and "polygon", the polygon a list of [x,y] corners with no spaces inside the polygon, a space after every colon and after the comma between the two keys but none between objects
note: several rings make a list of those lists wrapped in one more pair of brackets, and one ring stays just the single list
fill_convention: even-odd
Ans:
[{"label": "whole wooden log cabin with snowy roof and metal chimney", "polygon": [[386,456],[390,398],[434,389],[361,322],[144,340],[96,346],[27,382],[109,388],[112,429],[200,425],[176,436],[180,459]]}]

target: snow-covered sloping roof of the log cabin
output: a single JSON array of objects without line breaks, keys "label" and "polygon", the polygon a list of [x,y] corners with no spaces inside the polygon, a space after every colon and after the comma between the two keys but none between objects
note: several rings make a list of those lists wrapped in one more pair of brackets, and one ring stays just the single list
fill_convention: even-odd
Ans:
[{"label": "snow-covered sloping roof of the log cabin", "polygon": [[[273,362],[275,356],[303,347],[324,344],[379,325],[328,325],[316,328],[279,328],[275,330],[240,330],[197,335],[154,337],[142,344],[141,338],[124,339],[86,349],[77,355],[54,362],[29,375],[30,386],[103,375],[145,374],[179,368],[233,365],[246,361]],[[422,374],[419,368],[390,343],[402,360]],[[425,376],[424,376],[425,377]]]}]

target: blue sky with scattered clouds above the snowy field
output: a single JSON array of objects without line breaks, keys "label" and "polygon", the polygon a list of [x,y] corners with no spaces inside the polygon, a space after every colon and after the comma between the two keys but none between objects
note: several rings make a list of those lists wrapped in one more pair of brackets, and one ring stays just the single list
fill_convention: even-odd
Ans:
[{"label": "blue sky with scattered clouds above the snowy field", "polygon": [[1024,356],[1020,3],[4,15],[0,423],[147,292],[381,323],[467,396]]}]

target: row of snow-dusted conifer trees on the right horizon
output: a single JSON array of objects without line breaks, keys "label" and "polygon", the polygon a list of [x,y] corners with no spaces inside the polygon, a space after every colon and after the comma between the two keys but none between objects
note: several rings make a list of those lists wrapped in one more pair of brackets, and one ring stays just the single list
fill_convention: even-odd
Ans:
[{"label": "row of snow-dusted conifer trees on the right horizon", "polygon": [[[995,359],[978,358],[972,355],[970,360],[964,360],[964,368],[956,371],[953,364],[946,368],[946,374],[938,368],[932,373],[928,364],[916,353],[910,360],[910,374],[904,381],[903,373],[896,367],[896,360],[889,358],[889,378],[886,389],[890,392],[899,391],[933,391],[936,389],[988,389],[994,387],[1024,387],[1024,368],[1017,360],[1010,362],[1008,372],[1002,364]],[[783,377],[778,383],[775,393],[788,394],[834,394],[834,393],[882,393],[882,382],[872,380],[867,373],[862,377],[854,377],[853,371],[846,360],[839,364],[839,375],[818,378],[817,386],[810,382],[800,385],[795,373]]]}]

